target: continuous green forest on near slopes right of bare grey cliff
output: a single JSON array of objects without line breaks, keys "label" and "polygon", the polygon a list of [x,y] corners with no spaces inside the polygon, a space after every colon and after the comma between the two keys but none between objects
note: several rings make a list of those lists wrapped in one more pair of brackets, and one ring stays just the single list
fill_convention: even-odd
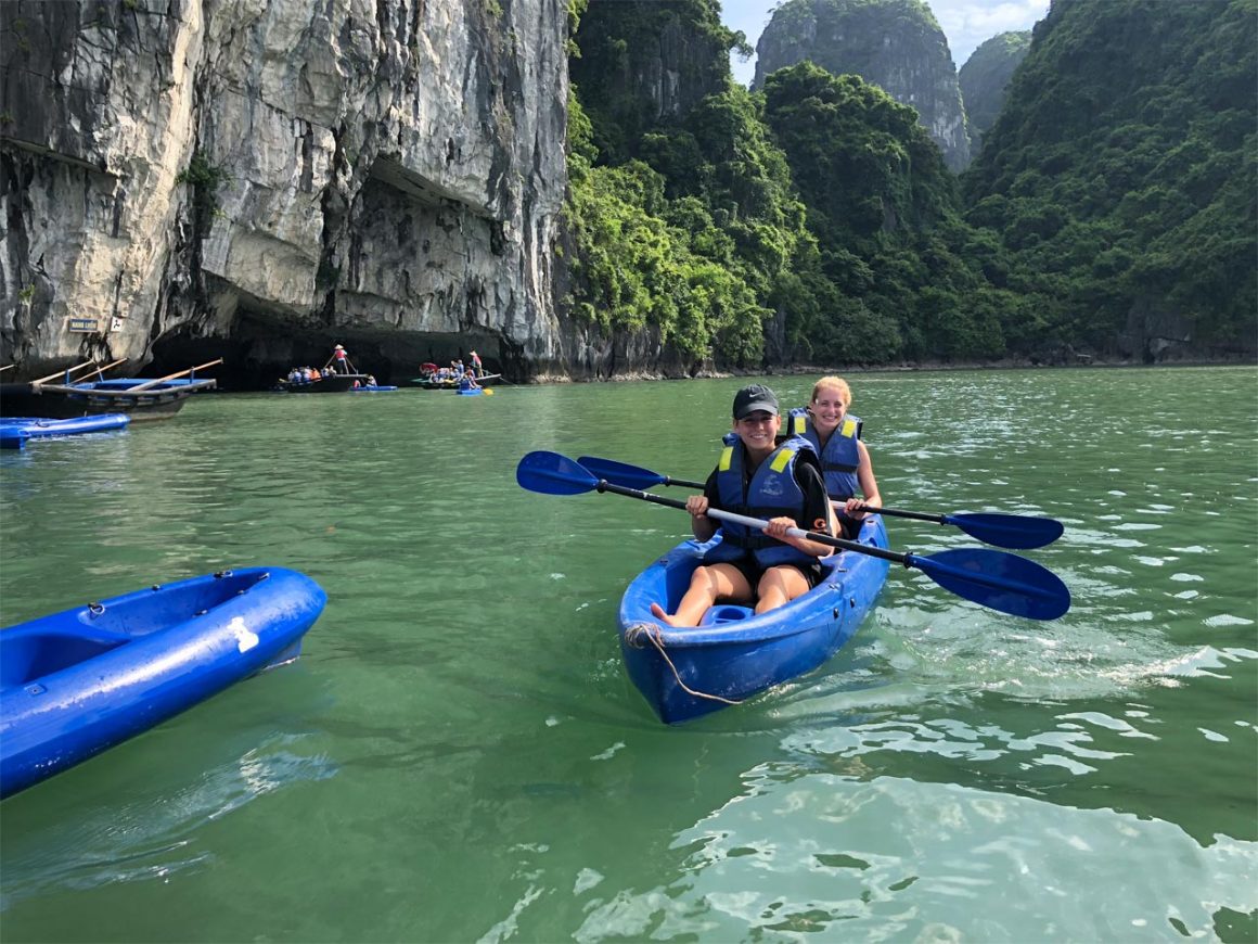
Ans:
[{"label": "continuous green forest on near slopes right of bare grey cliff", "polygon": [[961,188],[855,76],[733,86],[716,9],[581,18],[580,321],[692,366],[1252,355],[1258,0],[1055,0]]}]

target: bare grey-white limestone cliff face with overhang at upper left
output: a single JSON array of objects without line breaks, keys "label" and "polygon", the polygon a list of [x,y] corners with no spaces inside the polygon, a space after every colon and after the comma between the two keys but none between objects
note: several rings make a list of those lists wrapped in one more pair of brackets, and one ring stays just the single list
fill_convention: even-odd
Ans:
[{"label": "bare grey-white limestone cliff face with overhang at upper left", "polygon": [[0,4],[0,360],[562,370],[565,30],[560,0]]}]

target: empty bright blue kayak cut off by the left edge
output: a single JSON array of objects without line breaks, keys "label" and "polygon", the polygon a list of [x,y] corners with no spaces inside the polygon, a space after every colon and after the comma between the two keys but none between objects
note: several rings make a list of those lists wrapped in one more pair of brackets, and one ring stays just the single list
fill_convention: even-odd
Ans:
[{"label": "empty bright blue kayak cut off by the left edge", "polygon": [[297,658],[326,600],[294,570],[247,568],[0,629],[0,797]]}]

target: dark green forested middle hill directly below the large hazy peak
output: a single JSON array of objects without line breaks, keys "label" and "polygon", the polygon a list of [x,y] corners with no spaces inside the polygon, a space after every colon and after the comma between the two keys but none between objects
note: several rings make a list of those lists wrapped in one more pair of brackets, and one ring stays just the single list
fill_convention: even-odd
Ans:
[{"label": "dark green forested middle hill directly below the large hazy peak", "polygon": [[961,222],[955,177],[917,112],[811,63],[772,73],[765,98],[819,247],[806,281],[820,303],[794,310],[800,352],[864,362],[1001,355],[1003,322],[1021,312],[988,282],[980,261],[999,248],[984,250]]}]

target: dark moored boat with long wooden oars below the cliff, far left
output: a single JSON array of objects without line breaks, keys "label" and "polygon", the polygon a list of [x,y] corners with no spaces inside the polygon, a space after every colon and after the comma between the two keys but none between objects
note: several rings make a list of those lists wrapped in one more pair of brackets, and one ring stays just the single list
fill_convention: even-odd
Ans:
[{"label": "dark moored boat with long wooden oars below the cliff, far left", "polygon": [[[122,364],[122,360],[103,368],[96,368],[92,362],[81,364],[26,384],[0,384],[0,415],[73,419],[103,413],[125,413],[136,423],[170,419],[182,409],[184,403],[194,393],[218,386],[218,381],[213,378],[198,380],[196,371],[221,362],[223,359],[219,357],[156,379],[70,380],[70,376],[84,366],[94,368],[99,375]],[[63,378],[63,383],[50,383],[53,378]]]}]

